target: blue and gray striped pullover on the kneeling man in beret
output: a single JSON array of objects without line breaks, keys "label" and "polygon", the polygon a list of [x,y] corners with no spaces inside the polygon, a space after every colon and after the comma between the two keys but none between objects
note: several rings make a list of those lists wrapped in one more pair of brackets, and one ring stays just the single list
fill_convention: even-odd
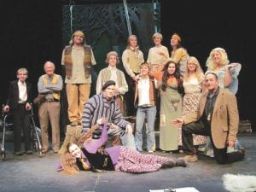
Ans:
[{"label": "blue and gray striped pullover on the kneeling man in beret", "polygon": [[[130,122],[123,119],[123,115],[120,112],[119,106],[113,97],[110,101],[104,98],[103,94],[97,94],[90,97],[88,102],[84,105],[84,111],[82,114],[82,125],[83,132],[90,129],[92,125],[96,125],[98,119],[105,117],[108,123],[113,123],[119,127],[125,129],[126,125]],[[102,125],[96,130],[97,133],[101,134]]]}]

